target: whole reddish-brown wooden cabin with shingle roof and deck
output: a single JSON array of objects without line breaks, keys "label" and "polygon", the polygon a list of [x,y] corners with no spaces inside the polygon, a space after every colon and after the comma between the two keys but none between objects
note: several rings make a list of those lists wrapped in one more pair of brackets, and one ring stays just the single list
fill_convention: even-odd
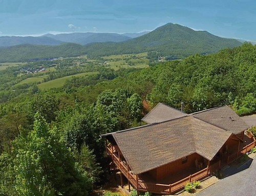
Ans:
[{"label": "whole reddish-brown wooden cabin with shingle roof and deck", "polygon": [[255,146],[249,126],[229,106],[186,114],[158,103],[147,125],[101,135],[111,169],[137,191],[172,194]]}]

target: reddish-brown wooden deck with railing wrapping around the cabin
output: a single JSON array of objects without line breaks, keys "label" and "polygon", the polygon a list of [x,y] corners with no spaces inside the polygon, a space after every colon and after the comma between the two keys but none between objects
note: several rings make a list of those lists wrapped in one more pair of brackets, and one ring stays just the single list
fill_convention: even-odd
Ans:
[{"label": "reddish-brown wooden deck with railing wrapping around the cabin", "polygon": [[211,162],[209,166],[204,167],[198,171],[196,168],[189,168],[182,172],[177,172],[158,182],[152,180],[150,176],[146,175],[134,175],[131,172],[129,165],[120,156],[118,146],[107,145],[106,152],[112,158],[113,164],[118,170],[121,171],[122,175],[129,181],[129,183],[136,188],[138,191],[150,191],[158,194],[173,194],[181,189],[189,182],[201,180],[209,176],[212,172],[218,171],[222,166],[227,165],[234,160],[241,157],[243,154],[250,151],[256,146],[256,141],[250,132],[244,135],[244,143],[241,143],[239,150],[233,154],[227,155],[225,159],[216,159],[215,162]]}]

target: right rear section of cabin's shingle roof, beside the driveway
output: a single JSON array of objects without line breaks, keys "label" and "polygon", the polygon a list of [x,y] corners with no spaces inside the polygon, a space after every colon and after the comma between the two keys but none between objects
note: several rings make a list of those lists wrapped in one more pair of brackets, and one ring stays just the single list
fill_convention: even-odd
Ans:
[{"label": "right rear section of cabin's shingle roof, beside the driveway", "polygon": [[210,110],[191,114],[194,117],[203,120],[207,123],[218,126],[231,133],[238,134],[249,126],[227,105],[222,107],[212,108]]}]

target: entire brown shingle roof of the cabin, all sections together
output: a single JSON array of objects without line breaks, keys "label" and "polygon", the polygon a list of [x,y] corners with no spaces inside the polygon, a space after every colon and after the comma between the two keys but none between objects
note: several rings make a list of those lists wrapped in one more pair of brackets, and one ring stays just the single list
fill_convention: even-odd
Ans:
[{"label": "entire brown shingle roof of the cabin, all sections together", "polygon": [[[135,174],[193,153],[212,160],[233,133],[248,128],[228,106],[187,115],[158,104],[152,111],[144,121],[154,122],[152,119],[158,119],[160,123],[102,135],[113,136]],[[160,117],[157,117],[158,114]]]}]

